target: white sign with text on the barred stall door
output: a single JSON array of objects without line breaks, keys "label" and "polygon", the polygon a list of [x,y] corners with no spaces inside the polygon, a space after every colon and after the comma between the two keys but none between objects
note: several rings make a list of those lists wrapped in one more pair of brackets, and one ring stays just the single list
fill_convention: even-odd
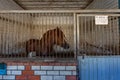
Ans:
[{"label": "white sign with text on the barred stall door", "polygon": [[96,25],[108,25],[108,16],[99,15],[95,16]]}]

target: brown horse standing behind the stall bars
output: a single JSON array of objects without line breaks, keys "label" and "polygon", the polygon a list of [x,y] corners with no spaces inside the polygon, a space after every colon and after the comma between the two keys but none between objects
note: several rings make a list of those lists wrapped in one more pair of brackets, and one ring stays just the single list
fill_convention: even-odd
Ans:
[{"label": "brown horse standing behind the stall bars", "polygon": [[36,55],[47,55],[54,52],[54,45],[59,45],[64,49],[69,48],[69,44],[66,42],[66,37],[64,33],[58,27],[52,30],[48,30],[46,33],[43,34],[40,40],[28,40],[26,42],[26,52],[27,54],[29,54],[30,52],[35,52]]}]

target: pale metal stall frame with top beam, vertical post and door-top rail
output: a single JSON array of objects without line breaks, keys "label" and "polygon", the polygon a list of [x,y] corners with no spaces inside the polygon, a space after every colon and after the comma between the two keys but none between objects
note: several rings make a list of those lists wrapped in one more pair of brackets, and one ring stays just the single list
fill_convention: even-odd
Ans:
[{"label": "pale metal stall frame with top beam, vertical post and door-top rail", "polygon": [[[110,9],[110,10],[1,10],[0,13],[72,13],[74,17],[74,53],[75,53],[75,59],[77,58],[77,55],[79,53],[79,16],[95,16],[95,15],[108,15],[108,16],[120,16],[120,10],[119,9]],[[8,59],[8,60],[16,60],[14,59]],[[22,58],[19,58],[20,60],[23,60]],[[19,60],[18,59],[18,60]],[[39,59],[39,58],[38,58]],[[27,60],[38,60],[35,58],[30,58]],[[41,59],[41,58],[40,58]],[[42,60],[42,59],[41,59]],[[44,58],[43,58],[44,60]],[[47,60],[47,59],[46,59]],[[48,59],[50,60],[50,59]],[[54,59],[56,61],[56,59]],[[64,59],[62,59],[64,60]]]}]

